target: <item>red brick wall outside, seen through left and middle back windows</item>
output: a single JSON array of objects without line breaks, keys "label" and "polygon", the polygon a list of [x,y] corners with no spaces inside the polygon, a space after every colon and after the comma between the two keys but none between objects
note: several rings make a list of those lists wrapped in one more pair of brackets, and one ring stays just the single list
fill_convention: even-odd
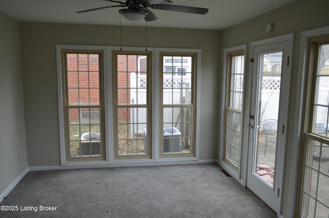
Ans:
[{"label": "red brick wall outside, seen through left and middle back windows", "polygon": [[[140,55],[117,56],[118,104],[131,104],[130,75],[138,71]],[[140,59],[140,74],[147,72],[147,58]],[[100,104],[99,55],[67,54],[67,86],[69,105]],[[81,109],[81,111],[89,109]],[[99,110],[99,109],[90,109]],[[70,122],[76,122],[79,109],[69,111]],[[130,122],[130,109],[120,109],[118,119]]]}]

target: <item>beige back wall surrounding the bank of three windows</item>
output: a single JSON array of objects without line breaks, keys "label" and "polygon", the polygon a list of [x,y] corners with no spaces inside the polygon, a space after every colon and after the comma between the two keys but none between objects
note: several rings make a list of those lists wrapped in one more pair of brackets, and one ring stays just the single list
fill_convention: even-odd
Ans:
[{"label": "beige back wall surrounding the bank of three windows", "polygon": [[[29,166],[59,166],[56,44],[120,45],[120,28],[20,23]],[[122,46],[145,46],[145,28],[122,27]],[[200,160],[216,159],[220,31],[148,28],[148,47],[202,49]],[[215,122],[214,122],[215,121]]]}]

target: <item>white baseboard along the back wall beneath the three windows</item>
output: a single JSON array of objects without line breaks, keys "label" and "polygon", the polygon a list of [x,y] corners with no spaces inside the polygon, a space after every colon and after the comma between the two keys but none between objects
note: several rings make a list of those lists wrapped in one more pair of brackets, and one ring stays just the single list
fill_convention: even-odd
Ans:
[{"label": "white baseboard along the back wall beneath the three windows", "polygon": [[145,162],[145,163],[112,163],[109,165],[84,165],[84,166],[79,166],[79,165],[76,165],[76,166],[40,166],[40,167],[29,167],[29,171],[111,168],[111,167],[166,166],[166,165],[182,165],[182,164],[214,164],[214,163],[216,163],[216,160]]}]

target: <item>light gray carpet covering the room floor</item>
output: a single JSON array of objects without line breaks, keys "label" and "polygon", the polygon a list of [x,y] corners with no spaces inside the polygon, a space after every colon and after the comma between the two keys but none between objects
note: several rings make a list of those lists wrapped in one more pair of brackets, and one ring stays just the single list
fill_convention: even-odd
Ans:
[{"label": "light gray carpet covering the room floor", "polygon": [[216,164],[29,172],[0,205],[19,206],[6,218],[277,217]]}]

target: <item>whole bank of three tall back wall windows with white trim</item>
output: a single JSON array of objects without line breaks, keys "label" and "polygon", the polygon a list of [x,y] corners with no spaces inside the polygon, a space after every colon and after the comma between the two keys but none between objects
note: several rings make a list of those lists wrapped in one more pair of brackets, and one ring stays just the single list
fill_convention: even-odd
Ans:
[{"label": "whole bank of three tall back wall windows with white trim", "polygon": [[200,50],[143,50],[57,45],[62,166],[198,159]]}]

